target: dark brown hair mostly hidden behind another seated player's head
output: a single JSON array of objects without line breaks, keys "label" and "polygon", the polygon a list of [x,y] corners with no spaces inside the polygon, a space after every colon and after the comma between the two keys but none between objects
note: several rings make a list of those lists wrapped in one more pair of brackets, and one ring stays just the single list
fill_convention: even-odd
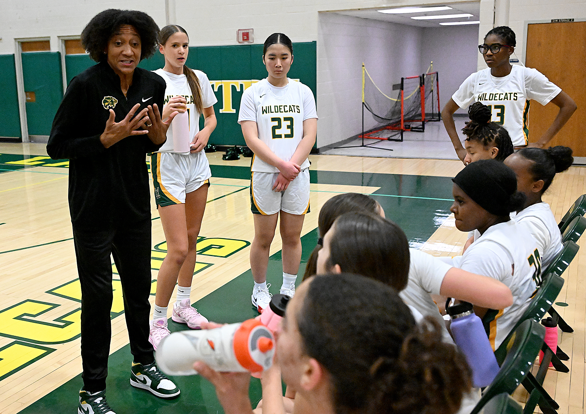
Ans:
[{"label": "dark brown hair mostly hidden behind another seated player's head", "polygon": [[[367,213],[378,213],[379,203],[372,197],[360,193],[345,193],[333,196],[326,201],[322,209],[319,210],[318,231],[319,238],[326,235],[336,218],[349,211],[366,211]],[[316,245],[314,251],[309,255],[305,265],[303,280],[317,272],[318,252],[322,248],[321,244]]]}]

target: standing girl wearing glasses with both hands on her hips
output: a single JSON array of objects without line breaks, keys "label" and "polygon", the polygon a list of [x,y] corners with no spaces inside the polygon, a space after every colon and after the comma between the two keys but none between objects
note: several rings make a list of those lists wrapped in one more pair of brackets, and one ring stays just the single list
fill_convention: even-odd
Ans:
[{"label": "standing girl wearing glasses with both hands on her hips", "polygon": [[[468,108],[472,102],[488,105],[492,122],[503,125],[513,145],[542,148],[560,131],[576,110],[576,104],[557,85],[551,83],[536,69],[509,63],[515,52],[515,32],[499,26],[486,33],[484,44],[478,46],[488,68],[471,74],[442,110],[445,129],[454,144],[458,158],[464,161],[466,150],[456,132],[452,115],[458,108]],[[529,103],[541,105],[553,102],[560,111],[537,142],[529,143]]]}]

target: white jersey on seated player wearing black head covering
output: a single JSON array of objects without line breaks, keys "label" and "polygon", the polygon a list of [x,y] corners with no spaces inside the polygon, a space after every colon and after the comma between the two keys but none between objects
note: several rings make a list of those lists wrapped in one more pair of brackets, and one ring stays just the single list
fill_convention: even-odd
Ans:
[{"label": "white jersey on seated player wearing black head covering", "polygon": [[496,350],[525,312],[536,286],[541,283],[536,242],[515,220],[509,220],[489,227],[464,255],[454,258],[454,265],[500,280],[513,293],[513,304],[494,312],[489,320],[489,340]]}]

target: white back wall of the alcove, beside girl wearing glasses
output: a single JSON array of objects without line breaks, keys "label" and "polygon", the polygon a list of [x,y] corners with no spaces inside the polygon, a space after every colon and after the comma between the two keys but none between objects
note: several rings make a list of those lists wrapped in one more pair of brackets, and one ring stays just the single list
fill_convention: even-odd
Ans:
[{"label": "white back wall of the alcove, beside girl wearing glasses", "polygon": [[[423,28],[421,63],[434,62],[440,77],[440,107],[443,108],[462,82],[476,71],[478,26]],[[467,110],[457,113],[466,114]]]}]

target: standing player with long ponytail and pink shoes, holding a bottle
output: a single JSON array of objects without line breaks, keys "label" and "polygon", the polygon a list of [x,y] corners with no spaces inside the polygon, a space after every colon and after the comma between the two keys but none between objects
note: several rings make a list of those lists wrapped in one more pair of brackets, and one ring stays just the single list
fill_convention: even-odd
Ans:
[{"label": "standing player with long ponytail and pink shoes, holding a bottle", "polygon": [[[155,350],[169,335],[167,307],[178,282],[177,300],[172,319],[200,329],[207,319],[191,306],[190,293],[197,252],[197,235],[206,208],[207,187],[212,176],[203,148],[216,128],[213,105],[217,102],[205,73],[185,65],[189,37],[181,26],[165,26],[159,35],[159,51],[165,55],[165,67],[155,70],[166,83],[163,119],[173,111],[188,112],[190,150],[173,149],[173,130],[167,141],[152,154],[151,171],[156,206],[167,242],[167,255],[156,283],[155,309],[149,341]],[[199,130],[199,117],[205,126]]]}]

